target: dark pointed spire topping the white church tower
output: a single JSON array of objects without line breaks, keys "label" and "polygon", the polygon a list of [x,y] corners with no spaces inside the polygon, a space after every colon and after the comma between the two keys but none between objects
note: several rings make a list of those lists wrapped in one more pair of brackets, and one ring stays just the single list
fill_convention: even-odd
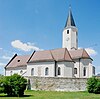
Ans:
[{"label": "dark pointed spire topping the white church tower", "polygon": [[65,24],[65,27],[68,27],[68,26],[75,26],[75,22],[74,22],[72,11],[71,11],[71,6],[69,6],[69,13],[68,13],[67,21]]}]

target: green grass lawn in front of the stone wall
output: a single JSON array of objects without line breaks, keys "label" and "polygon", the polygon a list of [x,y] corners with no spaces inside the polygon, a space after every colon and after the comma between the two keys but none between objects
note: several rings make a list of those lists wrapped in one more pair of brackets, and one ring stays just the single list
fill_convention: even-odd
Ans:
[{"label": "green grass lawn in front of the stone wall", "polygon": [[100,94],[88,92],[54,92],[54,91],[26,91],[24,97],[7,97],[0,94],[0,99],[100,99]]}]

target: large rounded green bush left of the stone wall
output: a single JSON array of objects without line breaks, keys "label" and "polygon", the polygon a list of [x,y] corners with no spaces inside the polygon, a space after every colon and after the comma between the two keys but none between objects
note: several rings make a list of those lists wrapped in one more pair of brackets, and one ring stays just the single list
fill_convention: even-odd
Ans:
[{"label": "large rounded green bush left of the stone wall", "polygon": [[24,77],[21,77],[18,74],[12,76],[4,77],[3,83],[3,92],[8,96],[23,96],[26,89],[27,80]]}]

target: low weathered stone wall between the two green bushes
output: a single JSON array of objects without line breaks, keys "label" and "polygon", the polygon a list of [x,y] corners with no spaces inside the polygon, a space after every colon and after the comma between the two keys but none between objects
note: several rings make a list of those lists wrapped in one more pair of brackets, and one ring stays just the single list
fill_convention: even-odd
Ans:
[{"label": "low weathered stone wall between the two green bushes", "polygon": [[85,91],[86,78],[27,77],[31,90]]}]

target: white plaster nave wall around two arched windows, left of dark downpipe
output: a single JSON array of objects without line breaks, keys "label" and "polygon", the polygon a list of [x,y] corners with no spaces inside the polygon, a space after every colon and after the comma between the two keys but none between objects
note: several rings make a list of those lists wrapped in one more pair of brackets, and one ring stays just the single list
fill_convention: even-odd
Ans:
[{"label": "white plaster nave wall around two arched windows, left of dark downpipe", "polygon": [[[54,77],[54,68],[55,62],[37,62],[37,63],[28,63],[27,65],[27,76],[31,76],[31,69],[34,68],[34,76],[39,77]],[[49,74],[45,75],[45,68],[49,68]]]}]

